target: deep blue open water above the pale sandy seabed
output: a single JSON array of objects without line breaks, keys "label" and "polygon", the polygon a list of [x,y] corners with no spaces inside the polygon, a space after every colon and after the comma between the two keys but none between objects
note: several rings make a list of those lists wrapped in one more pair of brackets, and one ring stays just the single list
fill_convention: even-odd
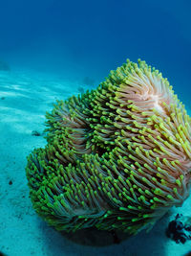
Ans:
[{"label": "deep blue open water above the pale sandy seabed", "polygon": [[189,0],[1,1],[0,58],[96,81],[126,58],[142,58],[189,105],[190,11]]}]

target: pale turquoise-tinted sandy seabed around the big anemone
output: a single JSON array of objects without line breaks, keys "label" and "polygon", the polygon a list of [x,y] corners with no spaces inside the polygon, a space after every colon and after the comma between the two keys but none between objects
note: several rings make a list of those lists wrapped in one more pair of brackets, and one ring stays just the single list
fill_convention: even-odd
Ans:
[{"label": "pale turquoise-tinted sandy seabed around the big anemone", "polygon": [[165,228],[176,213],[190,214],[190,198],[150,233],[141,232],[121,244],[106,247],[74,244],[33,211],[25,176],[26,157],[46,141],[42,136],[32,136],[32,130],[42,132],[44,114],[52,109],[55,99],[76,94],[79,85],[78,81],[34,72],[0,72],[0,251],[8,256],[181,256],[188,252],[191,242],[176,244],[165,237]]}]

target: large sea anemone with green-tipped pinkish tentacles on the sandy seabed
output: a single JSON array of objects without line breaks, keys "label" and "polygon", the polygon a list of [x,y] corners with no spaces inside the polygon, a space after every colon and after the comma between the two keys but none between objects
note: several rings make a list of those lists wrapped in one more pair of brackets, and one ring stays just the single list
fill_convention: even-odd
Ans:
[{"label": "large sea anemone with green-tipped pinkish tentacles on the sandy seabed", "polygon": [[57,230],[149,230],[189,195],[191,118],[145,61],[57,101],[26,168],[33,208]]}]

